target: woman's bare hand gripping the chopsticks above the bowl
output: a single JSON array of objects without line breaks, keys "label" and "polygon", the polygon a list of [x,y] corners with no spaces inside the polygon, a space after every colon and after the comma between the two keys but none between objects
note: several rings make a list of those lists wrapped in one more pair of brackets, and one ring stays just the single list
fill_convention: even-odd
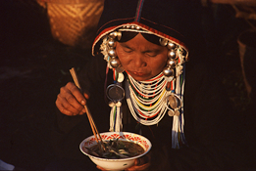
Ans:
[{"label": "woman's bare hand gripping the chopsticks above the bowl", "polygon": [[61,88],[55,104],[63,114],[80,115],[85,112],[83,106],[86,104],[86,99],[89,99],[88,94],[82,95],[77,86],[69,82]]}]

